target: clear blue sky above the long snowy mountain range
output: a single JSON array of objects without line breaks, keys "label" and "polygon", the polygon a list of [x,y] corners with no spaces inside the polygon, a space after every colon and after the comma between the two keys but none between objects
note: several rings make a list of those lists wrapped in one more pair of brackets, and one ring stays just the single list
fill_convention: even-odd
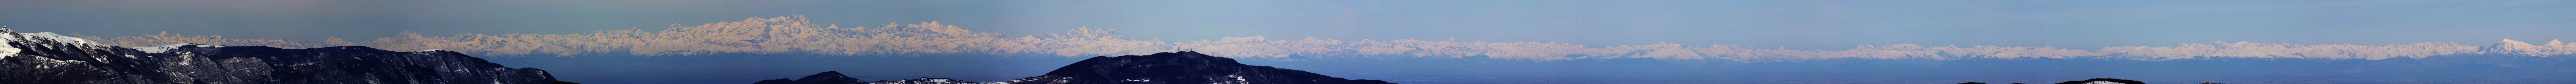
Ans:
[{"label": "clear blue sky above the long snowy mountain range", "polygon": [[2576,38],[2566,0],[0,0],[0,25],[82,36],[386,38],[587,33],[806,15],[1005,36],[1419,38],[1582,46],[2177,46]]}]

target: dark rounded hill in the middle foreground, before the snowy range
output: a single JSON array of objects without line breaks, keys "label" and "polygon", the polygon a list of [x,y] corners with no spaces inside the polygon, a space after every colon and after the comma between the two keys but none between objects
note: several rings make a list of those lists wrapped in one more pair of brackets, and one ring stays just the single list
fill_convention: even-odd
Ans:
[{"label": "dark rounded hill in the middle foreground, before the snowy range", "polygon": [[1010,81],[958,81],[958,79],[902,79],[858,81],[840,71],[822,71],[804,79],[765,79],[755,84],[1388,84],[1376,79],[1340,79],[1296,69],[1247,66],[1234,59],[1198,51],[1151,56],[1092,56],[1064,69]]}]

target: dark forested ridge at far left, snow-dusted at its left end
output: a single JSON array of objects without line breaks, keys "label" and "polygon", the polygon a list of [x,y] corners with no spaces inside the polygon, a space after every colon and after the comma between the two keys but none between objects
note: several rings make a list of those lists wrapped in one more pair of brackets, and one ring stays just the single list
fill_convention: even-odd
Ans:
[{"label": "dark forested ridge at far left, snow-dusted at its left end", "polygon": [[139,46],[0,28],[0,84],[562,84],[456,51]]}]

